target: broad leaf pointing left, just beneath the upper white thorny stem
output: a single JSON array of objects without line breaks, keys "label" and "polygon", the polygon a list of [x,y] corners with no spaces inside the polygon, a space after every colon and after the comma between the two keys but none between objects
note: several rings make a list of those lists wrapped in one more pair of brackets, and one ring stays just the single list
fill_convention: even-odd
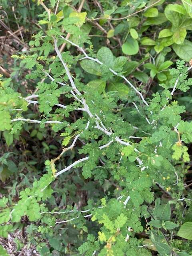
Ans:
[{"label": "broad leaf pointing left, just beneath the upper white thorny stem", "polygon": [[101,65],[94,62],[93,60],[82,60],[80,65],[86,72],[93,75],[102,76]]}]

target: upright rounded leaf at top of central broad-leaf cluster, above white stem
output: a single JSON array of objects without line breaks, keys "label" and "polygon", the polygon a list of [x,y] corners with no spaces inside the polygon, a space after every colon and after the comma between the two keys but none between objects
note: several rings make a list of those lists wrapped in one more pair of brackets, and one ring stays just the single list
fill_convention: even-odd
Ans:
[{"label": "upright rounded leaf at top of central broad-leaf cluster, above white stem", "polygon": [[102,46],[97,52],[97,58],[106,66],[113,66],[114,56],[109,48]]}]

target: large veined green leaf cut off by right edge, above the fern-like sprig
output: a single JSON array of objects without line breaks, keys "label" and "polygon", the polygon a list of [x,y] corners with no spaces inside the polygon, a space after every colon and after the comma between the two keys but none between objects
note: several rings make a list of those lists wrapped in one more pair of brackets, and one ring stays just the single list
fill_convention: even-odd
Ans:
[{"label": "large veined green leaf cut off by right edge, above the fern-like sprig", "polygon": [[189,40],[184,40],[184,43],[182,45],[179,44],[173,44],[173,50],[174,52],[185,61],[190,61],[192,57],[192,42]]}]

